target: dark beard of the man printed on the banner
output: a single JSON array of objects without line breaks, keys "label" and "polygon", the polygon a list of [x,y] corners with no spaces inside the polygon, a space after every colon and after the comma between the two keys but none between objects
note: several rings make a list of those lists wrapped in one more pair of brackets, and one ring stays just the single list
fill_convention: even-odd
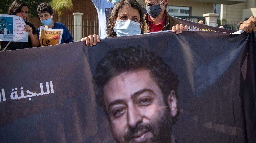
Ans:
[{"label": "dark beard of the man printed on the banner", "polygon": [[[125,143],[133,143],[132,139],[145,132],[151,132],[152,137],[143,143],[170,143],[172,140],[172,116],[169,108],[162,109],[164,115],[156,123],[149,124],[139,122],[134,127],[129,127],[124,135]],[[116,143],[121,143],[115,138]]]}]

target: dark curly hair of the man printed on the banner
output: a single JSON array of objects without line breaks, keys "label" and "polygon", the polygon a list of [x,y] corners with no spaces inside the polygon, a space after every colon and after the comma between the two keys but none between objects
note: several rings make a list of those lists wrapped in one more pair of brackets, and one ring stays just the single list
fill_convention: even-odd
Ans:
[{"label": "dark curly hair of the man printed on the banner", "polygon": [[130,46],[107,52],[98,63],[93,77],[97,105],[105,112],[107,111],[104,105],[103,89],[110,78],[125,71],[139,68],[146,68],[151,71],[152,77],[164,95],[166,105],[168,105],[168,95],[172,90],[174,90],[177,96],[178,75],[171,70],[170,66],[161,57],[155,56],[153,52],[149,52],[141,47]]}]

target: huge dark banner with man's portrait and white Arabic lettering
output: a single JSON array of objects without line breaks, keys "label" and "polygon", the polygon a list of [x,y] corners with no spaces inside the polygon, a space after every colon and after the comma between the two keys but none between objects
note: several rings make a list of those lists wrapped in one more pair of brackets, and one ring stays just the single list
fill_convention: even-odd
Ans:
[{"label": "huge dark banner with man's portrait and white Arabic lettering", "polygon": [[255,43],[164,31],[0,52],[1,141],[254,143]]}]

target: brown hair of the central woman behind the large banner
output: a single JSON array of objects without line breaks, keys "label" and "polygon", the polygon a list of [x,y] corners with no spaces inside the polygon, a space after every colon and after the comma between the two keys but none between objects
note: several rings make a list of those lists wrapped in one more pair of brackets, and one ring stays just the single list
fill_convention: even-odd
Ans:
[{"label": "brown hair of the central woman behind the large banner", "polygon": [[142,6],[139,4],[136,0],[121,0],[117,2],[112,9],[108,21],[107,21],[107,37],[114,37],[117,36],[116,32],[114,32],[114,23],[118,16],[118,12],[121,8],[123,8],[125,5],[131,6],[139,11],[139,23],[140,23],[140,29],[141,31],[144,31],[144,23],[143,23],[143,9]]}]

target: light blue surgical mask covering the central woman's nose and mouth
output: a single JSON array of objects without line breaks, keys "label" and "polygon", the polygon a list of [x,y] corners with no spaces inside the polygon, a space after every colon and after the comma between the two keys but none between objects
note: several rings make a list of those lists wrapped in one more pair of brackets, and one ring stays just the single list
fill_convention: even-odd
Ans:
[{"label": "light blue surgical mask covering the central woman's nose and mouth", "polygon": [[117,20],[114,32],[117,33],[117,36],[140,34],[140,23],[132,20]]}]

